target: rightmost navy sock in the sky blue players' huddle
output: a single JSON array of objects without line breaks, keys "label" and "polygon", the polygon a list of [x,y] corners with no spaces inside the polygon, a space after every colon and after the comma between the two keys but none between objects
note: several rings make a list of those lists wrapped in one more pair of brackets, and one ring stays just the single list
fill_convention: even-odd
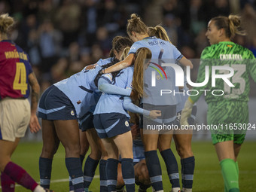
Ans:
[{"label": "rightmost navy sock in the sky blue players' huddle", "polygon": [[195,169],[195,157],[181,159],[182,190],[192,189]]}]

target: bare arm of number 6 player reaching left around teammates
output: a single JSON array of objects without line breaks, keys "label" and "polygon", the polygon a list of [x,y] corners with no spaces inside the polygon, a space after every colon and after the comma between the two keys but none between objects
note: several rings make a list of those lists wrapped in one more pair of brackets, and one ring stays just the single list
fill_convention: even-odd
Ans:
[{"label": "bare arm of number 6 player reaching left around teammates", "polygon": [[133,61],[135,59],[135,56],[133,53],[130,53],[128,56],[126,56],[125,59],[123,59],[120,62],[117,62],[113,66],[108,67],[107,69],[103,70],[103,73],[111,73],[111,72],[117,72],[121,69],[125,69],[126,67],[129,67],[132,65]]}]

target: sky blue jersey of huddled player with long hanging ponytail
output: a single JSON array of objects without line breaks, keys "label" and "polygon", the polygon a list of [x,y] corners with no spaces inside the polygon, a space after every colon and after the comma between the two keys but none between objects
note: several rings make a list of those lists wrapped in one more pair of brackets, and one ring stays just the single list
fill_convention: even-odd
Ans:
[{"label": "sky blue jersey of huddled player with long hanging ponytail", "polygon": [[[110,84],[112,82],[112,75],[105,74],[101,78],[105,78]],[[115,78],[114,85],[124,89],[132,89],[131,84],[133,81],[133,67],[122,69],[119,76]],[[108,93],[102,93],[99,98],[99,102],[96,105],[93,114],[105,114],[105,113],[120,113],[125,114],[126,117],[130,117],[126,110],[123,109],[123,96],[111,95]]]}]

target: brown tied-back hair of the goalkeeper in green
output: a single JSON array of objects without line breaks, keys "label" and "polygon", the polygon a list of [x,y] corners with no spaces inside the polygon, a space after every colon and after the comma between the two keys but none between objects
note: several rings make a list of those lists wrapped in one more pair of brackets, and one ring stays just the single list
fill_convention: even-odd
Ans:
[{"label": "brown tied-back hair of the goalkeeper in green", "polygon": [[237,15],[230,15],[229,17],[214,17],[212,21],[215,22],[217,29],[224,29],[226,36],[230,39],[235,35],[246,35],[245,31],[241,28],[241,19]]}]

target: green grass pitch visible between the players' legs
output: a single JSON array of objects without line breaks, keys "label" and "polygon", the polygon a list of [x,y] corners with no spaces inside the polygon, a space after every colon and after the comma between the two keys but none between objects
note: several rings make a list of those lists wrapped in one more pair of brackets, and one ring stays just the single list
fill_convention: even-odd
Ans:
[{"label": "green grass pitch visible between the players' legs", "polygon": [[[38,157],[41,153],[41,142],[21,142],[17,150],[14,152],[12,160],[14,163],[23,166],[36,181],[39,181]],[[221,176],[221,169],[218,165],[218,159],[215,154],[215,149],[211,142],[193,142],[192,148],[196,158],[196,168],[194,172],[194,192],[220,192],[224,191],[224,184]],[[246,142],[242,145],[239,154],[239,185],[241,192],[256,191],[256,142]],[[175,146],[172,143],[172,151],[178,161],[178,168],[181,170],[180,160],[175,151]],[[163,163],[162,157],[160,162],[163,170],[163,187],[164,191],[170,190],[170,183],[166,172],[166,166]],[[65,151],[62,146],[59,146],[54,160],[52,170],[52,183],[50,188],[56,192],[69,191],[69,178],[65,166]],[[180,174],[181,178],[181,174]],[[137,188],[137,187],[136,187]],[[90,190],[93,192],[99,191],[99,169],[96,170],[96,178],[93,179],[90,185]],[[17,192],[29,191],[23,187],[17,186]],[[148,189],[148,191],[152,191]]]}]

